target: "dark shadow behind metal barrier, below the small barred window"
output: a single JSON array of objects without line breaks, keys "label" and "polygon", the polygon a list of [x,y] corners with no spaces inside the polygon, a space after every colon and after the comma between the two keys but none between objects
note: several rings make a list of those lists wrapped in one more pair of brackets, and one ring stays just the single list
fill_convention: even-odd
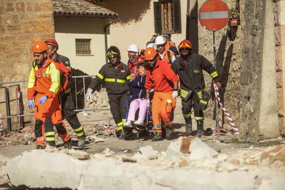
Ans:
[{"label": "dark shadow behind metal barrier, below the small barred window", "polygon": [[[83,71],[79,69],[73,69],[72,68],[72,76],[86,76],[88,74],[84,73]],[[83,90],[83,84],[85,84],[85,93],[87,92],[88,86],[92,82],[91,77],[85,77],[84,78],[84,83],[83,83],[83,78],[76,78],[76,88],[75,88],[75,78],[72,78],[72,82],[70,84],[70,89],[71,89],[71,95],[72,95],[72,101],[74,104],[74,109],[75,110],[81,110],[84,109],[84,90]],[[102,83],[102,88],[105,88],[105,81]],[[76,89],[76,91],[75,91]],[[99,85],[94,91],[99,91],[101,89],[101,85]],[[80,92],[82,90],[82,93]],[[79,93],[78,93],[79,92]],[[75,94],[77,96],[75,96]],[[75,98],[76,97],[76,98]],[[77,100],[77,106],[76,106],[76,100]]]}]

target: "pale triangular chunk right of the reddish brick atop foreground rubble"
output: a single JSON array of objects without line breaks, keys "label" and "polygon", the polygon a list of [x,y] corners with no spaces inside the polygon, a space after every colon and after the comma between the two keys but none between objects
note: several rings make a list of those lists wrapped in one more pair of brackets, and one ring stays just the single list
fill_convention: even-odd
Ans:
[{"label": "pale triangular chunk right of the reddish brick atop foreground rubble", "polygon": [[207,144],[203,143],[199,138],[192,140],[190,144],[190,160],[202,159],[206,157],[214,157],[218,152],[210,148]]}]

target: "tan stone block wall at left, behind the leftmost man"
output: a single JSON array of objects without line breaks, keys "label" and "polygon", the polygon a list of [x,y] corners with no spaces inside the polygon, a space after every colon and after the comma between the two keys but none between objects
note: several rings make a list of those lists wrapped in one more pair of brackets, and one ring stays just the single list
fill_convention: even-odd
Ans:
[{"label": "tan stone block wall at left, behind the leftmost man", "polygon": [[[0,82],[27,80],[32,66],[33,42],[54,38],[53,6],[51,0],[1,0],[0,2]],[[3,86],[3,85],[2,85]],[[17,114],[14,88],[10,87],[11,115]],[[24,114],[28,110],[26,100],[27,83],[20,83]],[[0,89],[0,113],[6,116],[4,89]],[[14,99],[14,101],[13,101]],[[30,121],[32,117],[25,117]],[[3,128],[7,128],[7,119],[3,119]],[[18,119],[12,119],[13,128]]]}]

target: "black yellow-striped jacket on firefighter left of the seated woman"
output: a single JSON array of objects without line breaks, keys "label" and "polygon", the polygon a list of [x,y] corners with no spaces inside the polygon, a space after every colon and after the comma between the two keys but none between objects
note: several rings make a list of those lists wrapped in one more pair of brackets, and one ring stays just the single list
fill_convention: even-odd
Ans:
[{"label": "black yellow-striped jacket on firefighter left of the seated woman", "polygon": [[130,74],[129,67],[122,62],[117,69],[111,63],[104,64],[88,88],[94,91],[105,80],[107,93],[123,94],[129,92]]}]

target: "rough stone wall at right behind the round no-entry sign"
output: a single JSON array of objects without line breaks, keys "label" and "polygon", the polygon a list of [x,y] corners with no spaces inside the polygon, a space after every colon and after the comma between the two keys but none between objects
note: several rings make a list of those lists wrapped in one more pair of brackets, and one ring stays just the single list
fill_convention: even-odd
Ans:
[{"label": "rough stone wall at right behind the round no-entry sign", "polygon": [[[202,3],[204,1],[198,0],[198,7]],[[227,0],[225,3],[229,8],[236,7],[235,0]],[[271,42],[265,40],[267,38],[265,33],[268,31],[265,32],[264,28],[274,27],[272,23],[265,22],[268,7],[267,1],[240,1],[241,24],[235,28],[226,26],[215,32],[217,71],[222,83],[221,101],[231,114],[241,132],[240,138],[244,141],[258,141],[261,138],[279,135],[277,100],[275,96],[272,96],[276,94],[276,76],[274,73],[273,75],[266,73],[267,66],[272,65],[272,62],[265,60],[266,57],[274,57],[274,53],[273,55],[267,53],[263,56],[265,47],[263,44],[269,46],[274,43],[274,38]],[[273,14],[273,8],[267,14],[270,15],[270,13]],[[199,43],[199,53],[213,62],[213,32],[205,30],[201,25],[199,26]],[[274,70],[274,67],[271,70]],[[207,73],[204,75],[207,90],[213,89],[210,76]],[[267,76],[273,78],[272,84],[266,78]],[[268,88],[264,89],[266,85]],[[271,91],[271,95],[266,94]],[[213,90],[211,92],[214,97]],[[265,105],[267,102],[269,103]],[[223,113],[220,115],[222,123],[229,126],[226,116]],[[273,115],[272,118],[267,119],[271,115]],[[210,102],[205,116],[215,119],[214,101]],[[264,118],[267,120],[264,121]],[[261,125],[261,121],[265,123]],[[268,131],[266,127],[274,131]]]}]

